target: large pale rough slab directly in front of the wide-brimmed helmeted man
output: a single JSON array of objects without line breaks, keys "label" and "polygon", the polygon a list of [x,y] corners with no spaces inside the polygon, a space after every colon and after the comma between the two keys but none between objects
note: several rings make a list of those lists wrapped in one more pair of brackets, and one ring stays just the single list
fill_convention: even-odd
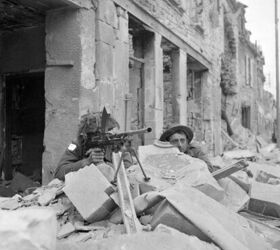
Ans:
[{"label": "large pale rough slab directly in front of the wide-brimmed helmeted man", "polygon": [[130,173],[135,175],[140,193],[162,191],[180,181],[185,185],[198,188],[217,200],[224,195],[222,188],[210,174],[206,163],[180,153],[177,148],[162,148],[155,144],[140,146],[139,156],[141,156],[146,173],[151,176],[151,180],[145,182],[137,168],[134,173]]}]

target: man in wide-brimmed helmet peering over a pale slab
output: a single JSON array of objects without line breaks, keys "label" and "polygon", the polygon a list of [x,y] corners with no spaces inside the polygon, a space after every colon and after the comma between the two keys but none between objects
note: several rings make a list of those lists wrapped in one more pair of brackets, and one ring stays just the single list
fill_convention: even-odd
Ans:
[{"label": "man in wide-brimmed helmet peering over a pale slab", "polygon": [[200,146],[191,143],[192,139],[193,131],[189,127],[176,125],[166,130],[159,140],[163,142],[168,141],[172,145],[176,146],[180,152],[203,160],[207,164],[209,171],[212,173],[215,169],[207,154]]}]

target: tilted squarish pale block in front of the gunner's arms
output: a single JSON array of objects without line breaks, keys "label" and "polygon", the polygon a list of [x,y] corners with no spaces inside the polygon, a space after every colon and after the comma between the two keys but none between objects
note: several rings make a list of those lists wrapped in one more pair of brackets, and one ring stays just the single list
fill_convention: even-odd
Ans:
[{"label": "tilted squarish pale block in front of the gunner's arms", "polygon": [[109,196],[111,184],[93,164],[67,174],[63,191],[89,222],[104,219],[116,206]]}]

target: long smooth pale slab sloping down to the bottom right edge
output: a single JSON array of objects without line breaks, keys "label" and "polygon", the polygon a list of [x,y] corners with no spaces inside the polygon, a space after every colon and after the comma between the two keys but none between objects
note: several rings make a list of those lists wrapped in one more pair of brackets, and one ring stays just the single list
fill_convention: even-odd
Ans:
[{"label": "long smooth pale slab sloping down to the bottom right edge", "polygon": [[185,221],[195,225],[222,249],[271,249],[255,234],[246,219],[194,188],[174,186],[161,195],[170,204],[170,209],[173,207]]}]

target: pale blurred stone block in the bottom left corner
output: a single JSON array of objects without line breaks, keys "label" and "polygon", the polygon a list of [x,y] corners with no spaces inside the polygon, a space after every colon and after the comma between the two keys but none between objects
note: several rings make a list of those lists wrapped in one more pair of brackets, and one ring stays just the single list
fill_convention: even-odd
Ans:
[{"label": "pale blurred stone block in the bottom left corner", "polygon": [[56,217],[51,209],[0,211],[0,249],[56,249]]}]

